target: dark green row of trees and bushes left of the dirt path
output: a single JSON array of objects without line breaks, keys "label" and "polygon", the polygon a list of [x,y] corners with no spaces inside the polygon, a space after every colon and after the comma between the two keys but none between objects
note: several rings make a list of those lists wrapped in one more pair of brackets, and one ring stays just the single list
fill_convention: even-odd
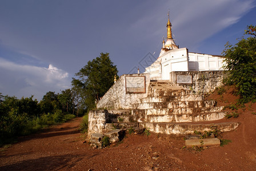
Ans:
[{"label": "dark green row of trees and bushes left of the dirt path", "polygon": [[58,94],[49,91],[39,103],[33,96],[18,99],[0,93],[0,146],[14,137],[65,122],[83,112],[77,108],[70,89]]}]

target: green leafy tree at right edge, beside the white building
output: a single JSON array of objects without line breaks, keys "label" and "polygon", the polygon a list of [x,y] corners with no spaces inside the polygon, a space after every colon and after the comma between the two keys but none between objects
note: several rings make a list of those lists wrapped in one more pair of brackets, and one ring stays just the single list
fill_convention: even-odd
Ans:
[{"label": "green leafy tree at right edge, beside the white building", "polygon": [[[255,26],[248,26],[245,34],[255,35]],[[239,40],[235,46],[227,42],[225,50],[227,84],[237,87],[241,103],[256,99],[256,37]]]}]

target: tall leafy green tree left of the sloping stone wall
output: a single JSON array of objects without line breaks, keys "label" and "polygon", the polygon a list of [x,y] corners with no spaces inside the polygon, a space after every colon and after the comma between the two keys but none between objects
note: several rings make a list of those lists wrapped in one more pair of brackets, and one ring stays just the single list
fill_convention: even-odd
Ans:
[{"label": "tall leafy green tree left of the sloping stone wall", "polygon": [[114,76],[117,75],[117,67],[109,58],[109,53],[103,54],[89,61],[77,74],[78,79],[73,78],[72,86],[82,89],[79,93],[84,98],[88,109],[95,107],[95,102],[102,97],[114,84]]}]

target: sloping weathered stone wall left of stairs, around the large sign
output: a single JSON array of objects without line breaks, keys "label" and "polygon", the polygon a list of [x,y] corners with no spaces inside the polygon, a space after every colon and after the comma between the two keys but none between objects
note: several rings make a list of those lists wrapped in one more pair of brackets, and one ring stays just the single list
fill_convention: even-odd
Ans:
[{"label": "sloping weathered stone wall left of stairs, around the large sign", "polygon": [[[145,76],[146,93],[126,93],[126,76]],[[97,103],[97,108],[104,109],[130,109],[131,104],[138,103],[143,97],[147,97],[147,91],[150,84],[149,74],[126,74],[122,75],[117,82],[105,93]]]}]

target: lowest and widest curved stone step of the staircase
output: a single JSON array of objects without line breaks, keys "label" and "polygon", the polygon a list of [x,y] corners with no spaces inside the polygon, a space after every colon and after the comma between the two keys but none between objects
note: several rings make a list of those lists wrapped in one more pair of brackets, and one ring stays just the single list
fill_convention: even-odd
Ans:
[{"label": "lowest and widest curved stone step of the staircase", "polygon": [[184,136],[192,135],[194,131],[213,131],[213,127],[221,132],[233,131],[238,123],[140,123],[140,127],[149,128],[151,132],[166,133],[168,135]]}]

